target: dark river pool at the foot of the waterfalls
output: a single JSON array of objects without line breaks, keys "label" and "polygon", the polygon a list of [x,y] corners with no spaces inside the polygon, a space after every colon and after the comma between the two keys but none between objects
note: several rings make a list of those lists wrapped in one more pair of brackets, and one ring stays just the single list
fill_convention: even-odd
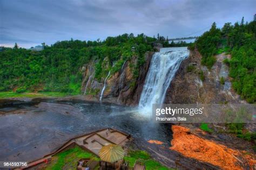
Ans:
[{"label": "dark river pool at the foot of the waterfalls", "polygon": [[56,150],[65,141],[91,131],[114,128],[145,143],[170,146],[170,124],[153,124],[136,108],[81,100],[42,99],[0,108],[0,160],[31,161]]}]

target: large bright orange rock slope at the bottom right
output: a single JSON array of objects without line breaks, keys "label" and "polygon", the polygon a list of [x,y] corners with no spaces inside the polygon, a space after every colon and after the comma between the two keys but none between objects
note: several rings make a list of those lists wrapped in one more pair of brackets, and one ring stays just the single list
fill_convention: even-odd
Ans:
[{"label": "large bright orange rock slope at the bottom right", "polygon": [[[242,169],[238,157],[243,157],[241,152],[232,150],[224,145],[215,143],[190,133],[190,129],[183,126],[172,126],[173,139],[171,141],[171,150],[178,151],[186,157],[208,162],[223,169]],[[250,156],[243,157],[246,164],[253,166],[253,160]]]}]

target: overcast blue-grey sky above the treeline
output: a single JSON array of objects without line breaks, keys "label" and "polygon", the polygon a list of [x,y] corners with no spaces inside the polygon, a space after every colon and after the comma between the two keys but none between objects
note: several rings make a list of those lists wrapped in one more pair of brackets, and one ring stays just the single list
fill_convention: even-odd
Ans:
[{"label": "overcast blue-grey sky above the treeline", "polygon": [[0,45],[104,40],[123,33],[197,36],[216,22],[250,22],[256,0],[0,0]]}]

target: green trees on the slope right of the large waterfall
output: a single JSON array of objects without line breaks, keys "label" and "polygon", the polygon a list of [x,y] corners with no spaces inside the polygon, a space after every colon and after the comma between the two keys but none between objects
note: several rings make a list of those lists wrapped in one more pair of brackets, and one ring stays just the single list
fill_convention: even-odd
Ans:
[{"label": "green trees on the slope right of the large waterfall", "polygon": [[191,49],[197,47],[203,56],[201,63],[211,68],[214,55],[225,52],[231,60],[224,62],[230,67],[232,86],[242,98],[250,103],[256,101],[256,22],[226,23],[218,29],[213,23],[209,31],[200,36]]}]

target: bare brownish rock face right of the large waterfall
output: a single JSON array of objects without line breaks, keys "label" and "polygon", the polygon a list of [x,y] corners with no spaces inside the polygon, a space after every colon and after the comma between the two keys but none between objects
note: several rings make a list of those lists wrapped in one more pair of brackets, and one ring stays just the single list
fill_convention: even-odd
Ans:
[{"label": "bare brownish rock face right of the large waterfall", "polygon": [[[223,63],[230,55],[219,54],[211,69],[201,65],[201,55],[190,51],[166,93],[165,103],[243,103],[231,88],[228,67]],[[221,84],[223,77],[225,84]]]}]

